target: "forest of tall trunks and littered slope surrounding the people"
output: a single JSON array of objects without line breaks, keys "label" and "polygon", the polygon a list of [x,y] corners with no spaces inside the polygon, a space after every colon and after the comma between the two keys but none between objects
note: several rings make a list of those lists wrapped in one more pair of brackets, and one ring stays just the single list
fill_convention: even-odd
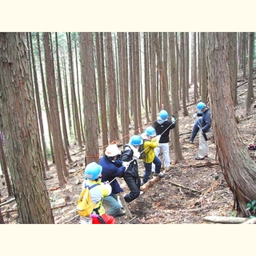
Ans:
[{"label": "forest of tall trunks and littered slope surrounding the people", "polygon": [[[0,33],[0,223],[79,223],[85,166],[162,109],[177,118],[171,169],[117,223],[254,223],[255,57],[254,32]],[[199,101],[212,127],[198,162]]]}]

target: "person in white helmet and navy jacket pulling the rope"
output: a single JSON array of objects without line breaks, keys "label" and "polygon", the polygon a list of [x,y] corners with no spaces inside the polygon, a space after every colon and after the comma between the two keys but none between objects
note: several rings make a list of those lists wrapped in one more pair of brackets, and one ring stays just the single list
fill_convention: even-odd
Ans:
[{"label": "person in white helmet and navy jacket pulling the rope", "polygon": [[116,143],[110,144],[105,150],[105,155],[101,157],[99,164],[102,166],[102,181],[109,181],[112,187],[112,193],[103,199],[103,202],[109,206],[107,214],[114,217],[122,216],[125,214],[122,211],[122,204],[119,202],[118,194],[124,190],[120,187],[117,177],[124,177],[124,170],[127,163],[123,163],[118,159],[121,155],[121,150],[118,149]]}]

